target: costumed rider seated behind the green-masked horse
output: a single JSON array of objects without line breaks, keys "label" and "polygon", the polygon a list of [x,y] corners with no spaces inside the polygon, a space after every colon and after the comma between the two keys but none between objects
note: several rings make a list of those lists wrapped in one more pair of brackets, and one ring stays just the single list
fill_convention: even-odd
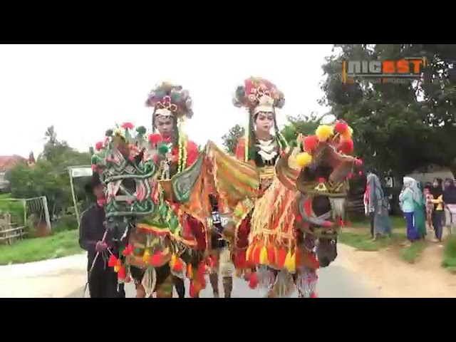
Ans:
[{"label": "costumed rider seated behind the green-masked horse", "polygon": [[[151,135],[150,139],[155,140],[153,141],[155,144],[165,143],[169,148],[160,176],[160,180],[169,180],[190,167],[199,155],[197,145],[189,140],[185,133],[185,120],[193,116],[192,98],[182,86],[163,82],[150,92],[146,106],[153,109],[152,131],[158,131]],[[201,254],[198,257],[202,259],[202,254],[206,250],[204,226],[195,217],[187,214],[184,214],[182,221],[182,227],[185,229],[183,233],[193,235],[197,239],[196,249],[199,251],[197,253]],[[190,274],[190,278],[192,276],[196,274]],[[173,282],[179,298],[184,298],[184,280],[174,276]],[[190,284],[192,296],[195,297],[199,291],[195,291],[194,285],[193,282]]]}]

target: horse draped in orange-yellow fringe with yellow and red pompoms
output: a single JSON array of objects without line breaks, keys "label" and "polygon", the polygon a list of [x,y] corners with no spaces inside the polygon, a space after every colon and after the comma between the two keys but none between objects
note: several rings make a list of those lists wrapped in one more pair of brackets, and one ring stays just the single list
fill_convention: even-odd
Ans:
[{"label": "horse draped in orange-yellow fringe with yellow and red pompoms", "polygon": [[275,166],[272,185],[255,204],[247,262],[269,298],[316,297],[317,269],[337,257],[337,236],[345,217],[348,179],[360,160],[346,123],[321,125],[299,137]]}]

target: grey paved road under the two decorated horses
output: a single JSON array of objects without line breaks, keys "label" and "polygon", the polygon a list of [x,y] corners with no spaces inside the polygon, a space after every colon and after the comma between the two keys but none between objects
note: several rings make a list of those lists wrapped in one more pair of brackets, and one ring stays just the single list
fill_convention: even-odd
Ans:
[{"label": "grey paved road under the two decorated horses", "polygon": [[[372,298],[375,297],[375,289],[371,289],[365,284],[362,284],[361,279],[356,274],[351,273],[343,266],[332,264],[331,266],[319,271],[320,279],[317,286],[317,294],[320,298]],[[223,296],[222,284],[220,282],[220,294]],[[135,296],[135,288],[133,284],[127,284],[125,287],[127,297]],[[187,284],[188,295],[188,284]],[[175,295],[177,296],[177,294]],[[67,298],[82,298],[83,287],[78,291],[73,292]],[[208,282],[206,289],[202,291],[203,298],[212,297],[212,288]],[[232,293],[234,298],[259,298],[260,291],[249,289],[247,281],[242,279],[234,279],[234,289]],[[293,297],[297,297],[294,294]]]}]

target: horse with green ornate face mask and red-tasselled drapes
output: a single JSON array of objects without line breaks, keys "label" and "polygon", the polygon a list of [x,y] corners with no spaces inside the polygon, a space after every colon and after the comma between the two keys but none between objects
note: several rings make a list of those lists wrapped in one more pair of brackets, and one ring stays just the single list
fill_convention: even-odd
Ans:
[{"label": "horse with green ornate face mask and red-tasselled drapes", "polygon": [[202,255],[178,205],[165,200],[157,178],[169,147],[147,135],[144,127],[125,123],[108,130],[92,157],[93,170],[105,185],[106,228],[120,257],[111,255],[120,283],[132,278],[146,295],[172,297],[172,275],[204,288]]}]

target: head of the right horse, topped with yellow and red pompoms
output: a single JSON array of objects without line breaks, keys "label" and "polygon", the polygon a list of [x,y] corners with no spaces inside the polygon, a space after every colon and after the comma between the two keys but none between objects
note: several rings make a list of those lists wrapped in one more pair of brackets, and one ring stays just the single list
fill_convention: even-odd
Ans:
[{"label": "head of the right horse, topped with yellow and red pompoms", "polygon": [[322,267],[337,257],[337,235],[345,217],[348,179],[360,162],[351,156],[351,134],[346,123],[321,125],[316,135],[300,137],[298,150],[287,151],[276,164],[281,183],[300,192],[296,214],[301,220],[296,222],[296,228],[313,237]]}]

